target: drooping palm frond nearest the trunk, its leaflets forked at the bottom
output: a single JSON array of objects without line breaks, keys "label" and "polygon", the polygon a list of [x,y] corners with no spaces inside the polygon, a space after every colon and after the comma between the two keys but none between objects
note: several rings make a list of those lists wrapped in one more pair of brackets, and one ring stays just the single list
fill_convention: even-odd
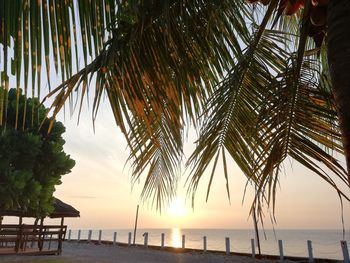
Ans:
[{"label": "drooping palm frond nearest the trunk, its leaflets forked at the bottom", "polygon": [[[258,179],[258,194],[266,194],[265,200],[273,208],[281,165],[288,156],[348,199],[335,183],[338,178],[347,185],[347,173],[331,153],[342,153],[343,148],[332,93],[320,87],[322,75],[317,65],[315,60],[304,60],[295,89],[296,62],[291,58],[285,72],[270,84],[267,103],[259,113],[257,134],[264,148],[256,156],[253,170]],[[326,168],[335,176],[328,175]]]}]

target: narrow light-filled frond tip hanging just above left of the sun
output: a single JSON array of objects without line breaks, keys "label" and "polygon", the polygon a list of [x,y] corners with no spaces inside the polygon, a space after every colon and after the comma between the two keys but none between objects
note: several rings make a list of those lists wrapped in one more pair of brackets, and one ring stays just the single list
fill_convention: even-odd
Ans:
[{"label": "narrow light-filled frond tip hanging just above left of the sun", "polygon": [[146,173],[141,198],[143,201],[152,199],[152,205],[156,204],[156,208],[161,211],[163,205],[176,195],[181,174],[179,167],[183,157],[183,140],[181,129],[174,126],[172,120],[167,120],[165,114],[155,117],[157,119],[151,127],[154,132],[152,136],[145,125],[136,120],[133,122],[137,132],[129,133],[134,153],[130,161],[133,183]]}]

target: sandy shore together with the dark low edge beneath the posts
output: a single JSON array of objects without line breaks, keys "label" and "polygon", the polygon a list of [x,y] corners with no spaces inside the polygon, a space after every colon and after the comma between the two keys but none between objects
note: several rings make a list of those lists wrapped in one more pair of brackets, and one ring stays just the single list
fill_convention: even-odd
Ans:
[{"label": "sandy shore together with the dark low edge beneath the posts", "polygon": [[[174,263],[220,263],[220,262],[278,262],[279,256],[261,255],[253,258],[248,253],[231,252],[226,254],[223,251],[200,249],[174,248],[148,245],[130,245],[111,241],[87,240],[64,241],[61,255],[52,256],[28,256],[28,255],[7,255],[1,256],[0,262],[57,262],[57,263],[80,263],[80,262],[174,262]],[[284,257],[284,262],[308,262],[308,258]],[[314,262],[341,262],[329,259],[314,259]]]}]

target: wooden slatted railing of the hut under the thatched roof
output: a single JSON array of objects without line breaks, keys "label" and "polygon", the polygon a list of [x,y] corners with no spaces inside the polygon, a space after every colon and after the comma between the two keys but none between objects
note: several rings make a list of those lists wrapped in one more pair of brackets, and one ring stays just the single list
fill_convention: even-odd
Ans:
[{"label": "wooden slatted railing of the hut under the thatched roof", "polygon": [[0,254],[60,254],[66,231],[65,225],[0,225]]}]

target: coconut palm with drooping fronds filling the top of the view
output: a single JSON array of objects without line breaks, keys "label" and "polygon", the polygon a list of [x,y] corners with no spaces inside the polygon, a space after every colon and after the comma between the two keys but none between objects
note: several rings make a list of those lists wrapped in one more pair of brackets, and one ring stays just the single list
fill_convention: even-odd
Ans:
[{"label": "coconut palm with drooping fronds filling the top of the view", "polygon": [[12,72],[40,96],[41,70],[49,78],[53,64],[63,81],[47,95],[56,115],[67,100],[80,112],[93,81],[93,117],[106,95],[134,179],[147,171],[142,196],[158,208],[175,193],[189,125],[199,133],[188,160],[193,198],[211,161],[208,193],[219,160],[228,178],[228,154],[255,185],[258,210],[274,206],[287,158],[349,200],[340,186],[348,190],[349,172],[332,154],[350,167],[348,1],[249,2],[0,0],[1,85],[8,90]]}]

